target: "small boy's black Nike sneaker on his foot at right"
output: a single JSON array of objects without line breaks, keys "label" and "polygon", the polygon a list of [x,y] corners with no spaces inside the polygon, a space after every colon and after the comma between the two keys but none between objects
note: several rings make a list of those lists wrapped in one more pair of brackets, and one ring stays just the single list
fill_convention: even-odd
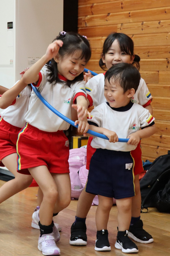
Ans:
[{"label": "small boy's black Nike sneaker on his foot at right", "polygon": [[126,253],[139,251],[137,245],[128,237],[127,230],[117,232],[117,240],[115,243],[115,247],[116,249],[120,249],[122,250],[122,252]]}]

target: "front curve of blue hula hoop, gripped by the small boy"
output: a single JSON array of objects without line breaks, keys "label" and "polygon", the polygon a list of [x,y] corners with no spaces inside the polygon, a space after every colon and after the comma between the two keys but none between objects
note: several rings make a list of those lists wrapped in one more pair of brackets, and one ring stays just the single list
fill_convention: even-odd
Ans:
[{"label": "front curve of blue hula hoop, gripped by the small boy", "polygon": [[[57,116],[59,116],[61,119],[63,119],[64,121],[66,121],[67,123],[73,125],[74,127],[78,128],[78,124],[75,125],[74,122],[72,120],[70,120],[68,117],[66,117],[65,115],[61,114],[59,111],[57,111],[55,108],[53,108],[53,106],[51,106],[44,98],[43,96],[40,94],[40,92],[37,90],[37,88],[35,86],[32,85],[32,89],[35,92],[35,94],[37,95],[37,97],[44,103],[44,105],[46,105],[47,108],[49,108],[54,114],[56,114]],[[94,132],[91,130],[88,130],[87,133],[94,135],[96,137],[105,139],[105,140],[109,140],[109,138],[103,134],[100,134],[98,132]],[[128,142],[129,139],[122,139],[119,138],[118,142]]]}]

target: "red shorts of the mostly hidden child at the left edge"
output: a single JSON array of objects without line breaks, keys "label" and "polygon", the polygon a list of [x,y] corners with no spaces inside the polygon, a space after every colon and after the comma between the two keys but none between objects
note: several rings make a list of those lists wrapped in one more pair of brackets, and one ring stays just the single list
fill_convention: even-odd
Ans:
[{"label": "red shorts of the mostly hidden child at the left edge", "polygon": [[[3,118],[0,119],[0,159],[17,153],[16,144],[18,133],[21,128],[7,123]],[[0,166],[4,166],[0,160]]]}]

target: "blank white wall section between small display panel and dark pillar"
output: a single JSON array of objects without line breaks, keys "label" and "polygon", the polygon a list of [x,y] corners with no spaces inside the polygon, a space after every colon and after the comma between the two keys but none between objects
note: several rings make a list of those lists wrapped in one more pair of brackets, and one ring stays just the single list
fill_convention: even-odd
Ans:
[{"label": "blank white wall section between small display panel and dark pillar", "polygon": [[16,18],[18,80],[19,73],[28,67],[28,57],[41,58],[48,45],[63,30],[63,0],[17,0]]}]

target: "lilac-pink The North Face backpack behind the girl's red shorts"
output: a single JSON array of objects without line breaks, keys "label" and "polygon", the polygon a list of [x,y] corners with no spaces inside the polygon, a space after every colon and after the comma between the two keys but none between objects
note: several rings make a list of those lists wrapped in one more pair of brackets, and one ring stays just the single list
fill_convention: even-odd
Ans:
[{"label": "lilac-pink The North Face backpack behind the girl's red shorts", "polygon": [[87,150],[84,147],[70,149],[68,162],[69,162],[69,170],[70,170],[72,199],[74,198],[78,199],[83,190],[83,186],[79,179],[78,171],[80,167],[86,165],[86,155],[87,155]]}]

